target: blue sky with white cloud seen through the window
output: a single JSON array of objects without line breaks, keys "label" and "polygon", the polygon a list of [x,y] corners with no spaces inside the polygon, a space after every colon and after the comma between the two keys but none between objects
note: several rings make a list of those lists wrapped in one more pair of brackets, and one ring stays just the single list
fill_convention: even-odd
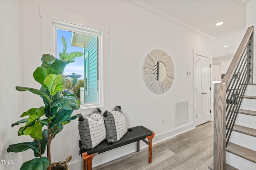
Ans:
[{"label": "blue sky with white cloud seen through the window", "polygon": [[[71,53],[74,51],[79,51],[84,53],[84,48],[82,47],[74,47],[71,45],[71,36],[72,32],[70,31],[65,31],[62,29],[57,29],[57,58],[59,57],[59,53],[63,51],[63,43],[61,40],[61,37],[64,37],[67,42],[67,51],[66,53]],[[65,67],[64,73],[65,75],[71,75],[72,73],[76,73],[79,75],[82,75],[80,79],[84,79],[84,56],[78,57],[75,59],[74,63],[70,63]]]}]

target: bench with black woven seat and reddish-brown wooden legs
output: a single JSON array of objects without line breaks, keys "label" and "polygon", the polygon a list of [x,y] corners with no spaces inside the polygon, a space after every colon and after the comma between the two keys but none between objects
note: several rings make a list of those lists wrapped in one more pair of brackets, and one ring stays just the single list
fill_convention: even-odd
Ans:
[{"label": "bench with black woven seat and reddish-brown wooden legs", "polygon": [[[152,139],[154,132],[150,131],[144,126],[136,126],[128,129],[128,132],[116,143],[108,144],[107,140],[102,141],[93,149],[86,150],[82,147],[79,141],[80,154],[83,159],[83,170],[92,170],[92,159],[97,154],[112,150],[130,143],[137,142],[137,152],[140,151],[140,141],[148,144],[148,163],[152,162]],[[145,139],[148,139],[146,141]]]}]

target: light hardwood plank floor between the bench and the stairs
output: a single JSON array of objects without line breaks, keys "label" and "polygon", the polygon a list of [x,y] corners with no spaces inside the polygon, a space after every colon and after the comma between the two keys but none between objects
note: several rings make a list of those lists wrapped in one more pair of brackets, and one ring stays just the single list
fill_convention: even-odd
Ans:
[{"label": "light hardwood plank floor between the bench and the stairs", "polygon": [[209,170],[208,166],[213,163],[213,121],[152,147],[151,164],[148,164],[148,148],[145,148],[92,169]]}]

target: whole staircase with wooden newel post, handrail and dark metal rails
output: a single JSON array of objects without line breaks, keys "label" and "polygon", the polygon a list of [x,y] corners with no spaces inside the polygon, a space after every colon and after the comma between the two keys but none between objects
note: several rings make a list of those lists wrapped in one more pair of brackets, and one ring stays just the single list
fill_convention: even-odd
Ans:
[{"label": "whole staircase with wooden newel post, handrail and dark metal rails", "polygon": [[248,27],[222,80],[214,84],[215,170],[256,170],[254,26]]}]

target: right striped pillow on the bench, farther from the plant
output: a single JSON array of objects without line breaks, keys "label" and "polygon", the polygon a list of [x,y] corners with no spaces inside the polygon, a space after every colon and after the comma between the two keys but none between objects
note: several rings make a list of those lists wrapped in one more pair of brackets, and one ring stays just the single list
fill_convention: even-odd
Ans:
[{"label": "right striped pillow on the bench, farther from the plant", "polygon": [[108,143],[114,143],[120,140],[128,131],[126,119],[121,111],[121,107],[116,106],[112,113],[106,110],[103,116],[107,131],[106,139],[108,140]]}]

